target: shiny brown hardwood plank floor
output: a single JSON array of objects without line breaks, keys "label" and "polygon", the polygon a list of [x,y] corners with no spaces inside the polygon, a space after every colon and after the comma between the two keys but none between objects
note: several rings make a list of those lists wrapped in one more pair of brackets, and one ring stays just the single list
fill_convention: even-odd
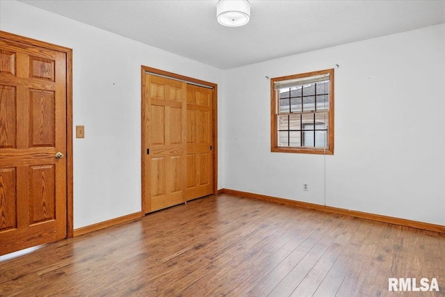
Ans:
[{"label": "shiny brown hardwood plank floor", "polygon": [[419,296],[445,234],[233,195],[50,243],[0,263],[0,296]]}]

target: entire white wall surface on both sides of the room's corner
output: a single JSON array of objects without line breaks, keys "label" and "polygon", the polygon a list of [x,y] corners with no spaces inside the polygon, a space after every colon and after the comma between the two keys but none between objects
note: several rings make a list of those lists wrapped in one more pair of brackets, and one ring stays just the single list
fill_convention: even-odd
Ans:
[{"label": "entire white wall surface on both sides of the room's corner", "polygon": [[[444,24],[222,71],[24,3],[0,8],[1,30],[73,49],[73,123],[86,127],[75,228],[140,211],[140,65],[218,83],[219,188],[445,225]],[[266,76],[332,67],[334,156],[271,153]]]}]

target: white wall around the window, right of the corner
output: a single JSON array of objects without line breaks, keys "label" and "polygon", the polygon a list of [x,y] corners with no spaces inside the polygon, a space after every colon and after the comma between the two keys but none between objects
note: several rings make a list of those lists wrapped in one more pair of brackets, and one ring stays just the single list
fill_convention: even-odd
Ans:
[{"label": "white wall around the window, right of the corner", "polygon": [[[334,156],[270,152],[266,76],[328,68]],[[445,225],[445,24],[225,75],[227,188]]]}]

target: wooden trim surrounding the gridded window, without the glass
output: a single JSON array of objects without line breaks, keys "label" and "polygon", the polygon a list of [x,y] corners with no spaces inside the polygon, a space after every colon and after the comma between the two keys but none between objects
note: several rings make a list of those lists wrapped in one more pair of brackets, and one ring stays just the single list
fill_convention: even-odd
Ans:
[{"label": "wooden trim surrounding the gridded window, without the glass", "polygon": [[[277,136],[277,104],[275,103],[276,98],[274,90],[275,82],[285,81],[288,79],[300,79],[302,77],[312,77],[320,74],[330,74],[327,147],[279,147]],[[334,69],[293,74],[286,77],[275,77],[273,79],[270,79],[270,151],[291,152],[298,154],[334,154]]]}]

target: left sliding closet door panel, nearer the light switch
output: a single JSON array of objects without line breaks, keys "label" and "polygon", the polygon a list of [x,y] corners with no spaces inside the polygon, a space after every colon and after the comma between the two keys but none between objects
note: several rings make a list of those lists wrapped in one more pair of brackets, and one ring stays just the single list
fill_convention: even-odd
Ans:
[{"label": "left sliding closet door panel, nearer the light switch", "polygon": [[185,201],[186,83],[145,75],[145,213],[148,213]]}]

